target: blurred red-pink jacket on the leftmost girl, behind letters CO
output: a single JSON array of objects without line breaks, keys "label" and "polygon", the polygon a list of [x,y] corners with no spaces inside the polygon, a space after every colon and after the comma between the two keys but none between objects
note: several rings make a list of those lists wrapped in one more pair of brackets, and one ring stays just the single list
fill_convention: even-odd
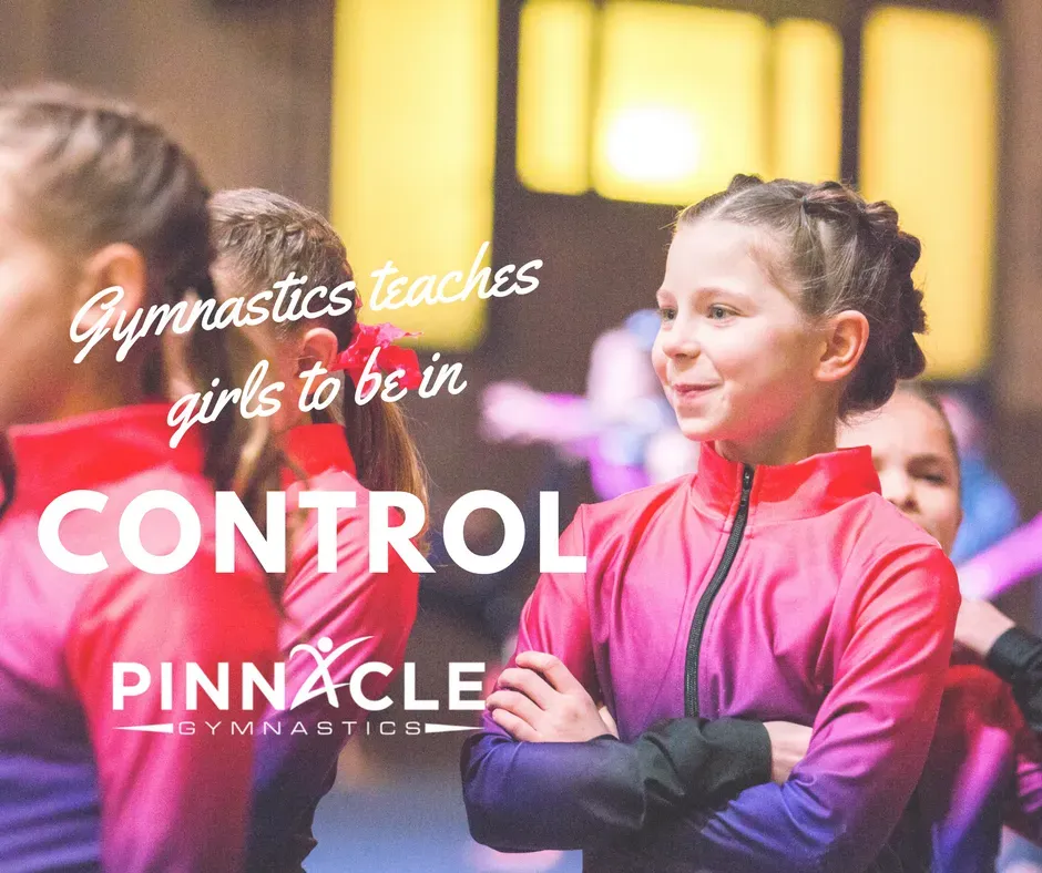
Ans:
[{"label": "blurred red-pink jacket on the leftmost girl, behind letters CO", "polygon": [[[232,873],[241,867],[253,738],[236,695],[222,709],[206,695],[186,703],[175,678],[163,705],[161,664],[210,677],[244,663],[270,676],[278,615],[253,556],[215,569],[213,486],[188,433],[170,448],[165,404],[126,407],[12,429],[14,497],[0,521],[0,870]],[[75,554],[101,550],[105,571],[73,575],[40,546],[40,514],[78,489],[108,496],[101,513],[61,523]],[[136,569],[120,547],[122,510],[170,490],[197,511],[198,552],[162,576]],[[176,545],[167,512],[141,525],[152,554]],[[113,710],[113,664],[145,665],[151,686]],[[223,729],[213,732],[205,725]],[[187,733],[187,726],[193,733]],[[156,726],[155,731],[129,730]],[[164,732],[165,728],[165,732]]]}]

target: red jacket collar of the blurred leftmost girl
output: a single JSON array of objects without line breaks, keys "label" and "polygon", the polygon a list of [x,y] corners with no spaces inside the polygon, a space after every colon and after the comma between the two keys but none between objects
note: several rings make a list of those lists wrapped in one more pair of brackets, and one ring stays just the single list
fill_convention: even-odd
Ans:
[{"label": "red jacket collar of the blurred leftmost girl", "polygon": [[42,507],[67,491],[96,489],[155,466],[201,473],[198,432],[188,431],[171,449],[168,412],[166,403],[145,403],[9,429],[17,503]]}]

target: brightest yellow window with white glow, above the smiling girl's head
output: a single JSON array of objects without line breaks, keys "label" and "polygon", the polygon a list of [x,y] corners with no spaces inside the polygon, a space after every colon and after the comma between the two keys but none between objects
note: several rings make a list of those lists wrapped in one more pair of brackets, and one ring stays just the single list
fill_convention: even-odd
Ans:
[{"label": "brightest yellow window with white glow, above the smiling girl's head", "polygon": [[593,183],[688,203],[767,170],[770,31],[745,12],[614,0],[601,21]]}]

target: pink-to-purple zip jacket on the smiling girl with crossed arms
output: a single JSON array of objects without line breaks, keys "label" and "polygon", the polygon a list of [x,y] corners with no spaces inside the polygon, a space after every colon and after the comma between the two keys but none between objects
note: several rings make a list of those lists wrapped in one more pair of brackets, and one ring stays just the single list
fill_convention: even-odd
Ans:
[{"label": "pink-to-purple zip jacket on the smiling girl with crossed arms", "polygon": [[[590,871],[871,864],[926,761],[959,606],[951,563],[878,491],[865,448],[754,470],[705,445],[696,474],[582,507],[561,554],[586,571],[539,581],[518,650],[559,656],[621,741],[518,743],[487,719],[462,761],[476,838],[585,849]],[[814,736],[786,784],[656,823],[635,756],[685,717]]]}]

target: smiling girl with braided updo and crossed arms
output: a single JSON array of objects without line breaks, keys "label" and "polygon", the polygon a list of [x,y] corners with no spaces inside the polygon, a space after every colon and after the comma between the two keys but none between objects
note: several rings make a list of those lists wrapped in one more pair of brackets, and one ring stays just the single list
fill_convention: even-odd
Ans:
[{"label": "smiling girl with braided updo and crossed arms", "polygon": [[[681,214],[653,359],[698,470],[564,533],[585,569],[540,579],[463,750],[479,841],[582,848],[594,871],[879,855],[927,756],[959,595],[937,543],[879,496],[868,450],[836,450],[835,421],[923,369],[918,257],[892,208],[837,183],[737,177]],[[785,784],[664,814],[712,781],[719,722],[699,719],[725,717],[733,736],[735,718],[813,722],[809,752]],[[763,727],[743,726],[759,748]],[[882,869],[922,860],[898,833]]]}]

